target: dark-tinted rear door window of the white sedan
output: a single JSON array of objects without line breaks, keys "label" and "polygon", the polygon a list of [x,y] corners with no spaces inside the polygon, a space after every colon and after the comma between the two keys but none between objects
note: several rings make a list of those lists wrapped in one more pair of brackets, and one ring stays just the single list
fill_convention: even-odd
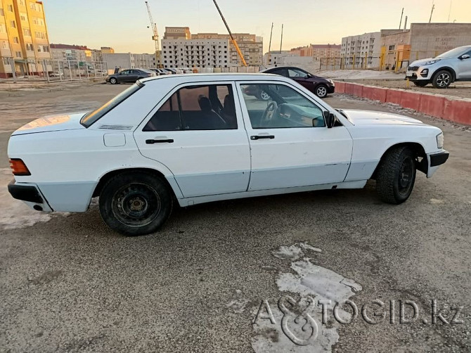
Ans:
[{"label": "dark-tinted rear door window of the white sedan", "polygon": [[186,86],[150,118],[143,131],[237,129],[231,84]]}]

